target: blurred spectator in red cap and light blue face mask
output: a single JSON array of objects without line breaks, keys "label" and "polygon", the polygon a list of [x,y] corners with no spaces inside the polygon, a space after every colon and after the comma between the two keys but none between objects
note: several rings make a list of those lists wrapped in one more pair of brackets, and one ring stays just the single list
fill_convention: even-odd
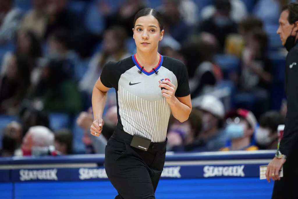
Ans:
[{"label": "blurred spectator in red cap and light blue face mask", "polygon": [[231,142],[230,146],[221,148],[221,151],[258,150],[252,145],[254,129],[257,119],[246,109],[237,109],[226,114],[226,134]]}]

